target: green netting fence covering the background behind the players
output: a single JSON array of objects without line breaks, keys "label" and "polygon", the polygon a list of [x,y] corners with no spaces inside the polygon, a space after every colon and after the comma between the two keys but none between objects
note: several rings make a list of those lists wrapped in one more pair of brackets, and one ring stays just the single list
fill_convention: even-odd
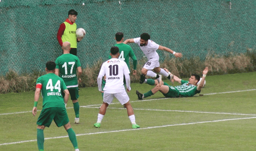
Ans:
[{"label": "green netting fence covering the background behind the players", "polygon": [[[1,0],[0,71],[29,73],[55,61],[62,54],[58,28],[70,9],[78,12],[77,28],[87,32],[77,46],[82,67],[107,60],[116,32],[125,39],[149,33],[186,58],[204,59],[209,50],[244,53],[256,45],[255,6],[251,0]],[[130,46],[138,60],[144,56]],[[162,61],[166,54],[157,52]]]}]

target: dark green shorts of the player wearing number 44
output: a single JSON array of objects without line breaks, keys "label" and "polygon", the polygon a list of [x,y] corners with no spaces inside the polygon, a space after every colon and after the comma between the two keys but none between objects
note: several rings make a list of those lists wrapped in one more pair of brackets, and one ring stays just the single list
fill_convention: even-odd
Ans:
[{"label": "dark green shorts of the player wearing number 44", "polygon": [[50,127],[52,121],[56,123],[57,127],[61,127],[69,122],[66,108],[50,107],[42,109],[36,124]]}]

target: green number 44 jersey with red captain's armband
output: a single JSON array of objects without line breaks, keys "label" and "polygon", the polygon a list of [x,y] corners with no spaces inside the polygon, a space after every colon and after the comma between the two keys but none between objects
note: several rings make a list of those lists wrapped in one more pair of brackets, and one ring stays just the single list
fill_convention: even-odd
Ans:
[{"label": "green number 44 jersey with red captain's armband", "polygon": [[64,107],[62,92],[67,89],[64,81],[54,73],[42,75],[36,80],[36,87],[41,89],[43,109]]}]

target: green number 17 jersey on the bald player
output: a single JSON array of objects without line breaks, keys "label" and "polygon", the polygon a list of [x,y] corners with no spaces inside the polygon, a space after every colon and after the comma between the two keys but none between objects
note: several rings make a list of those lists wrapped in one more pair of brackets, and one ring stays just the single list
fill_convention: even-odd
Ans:
[{"label": "green number 17 jersey on the bald player", "polygon": [[59,69],[59,76],[64,80],[67,88],[78,87],[76,68],[81,66],[77,56],[63,54],[56,61],[56,68]]}]

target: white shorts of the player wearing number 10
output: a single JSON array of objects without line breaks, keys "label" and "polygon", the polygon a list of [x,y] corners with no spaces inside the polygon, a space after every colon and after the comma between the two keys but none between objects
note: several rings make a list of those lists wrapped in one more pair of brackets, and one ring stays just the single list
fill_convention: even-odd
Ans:
[{"label": "white shorts of the player wearing number 10", "polygon": [[124,90],[123,92],[114,93],[114,94],[104,93],[103,94],[103,102],[107,103],[107,104],[111,104],[114,99],[114,96],[118,99],[118,101],[122,105],[124,105],[125,103],[127,103],[130,100],[127,93]]}]

